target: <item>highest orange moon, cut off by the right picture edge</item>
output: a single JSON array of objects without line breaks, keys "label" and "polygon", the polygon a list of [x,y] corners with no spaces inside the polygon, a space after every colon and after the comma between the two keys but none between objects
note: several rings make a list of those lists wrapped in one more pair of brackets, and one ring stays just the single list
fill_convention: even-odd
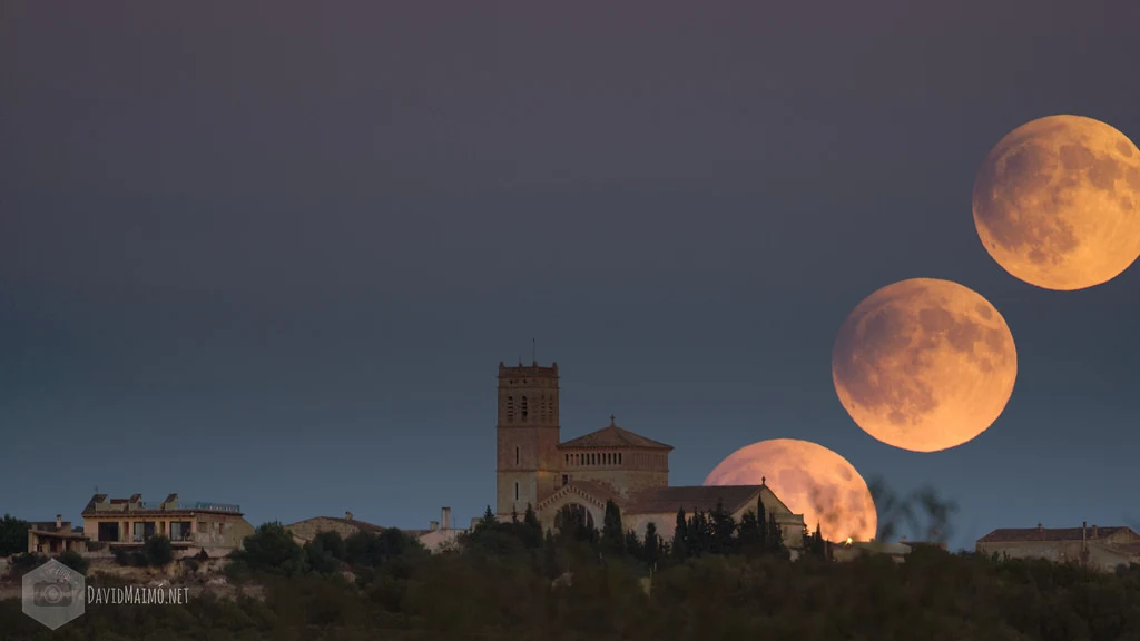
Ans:
[{"label": "highest orange moon, cut off by the right picture edge", "polygon": [[1104,122],[1034,120],[986,155],[974,225],[997,265],[1047,290],[1112,281],[1140,257],[1140,149]]}]

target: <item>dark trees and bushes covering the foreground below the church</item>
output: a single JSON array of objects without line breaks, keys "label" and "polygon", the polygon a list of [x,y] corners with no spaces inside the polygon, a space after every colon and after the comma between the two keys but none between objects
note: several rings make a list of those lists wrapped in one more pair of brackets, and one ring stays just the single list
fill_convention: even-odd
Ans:
[{"label": "dark trees and bushes covering the foreground below the church", "polygon": [[[1140,568],[1090,574],[920,547],[905,562],[791,561],[771,519],[724,510],[677,517],[663,541],[565,510],[543,532],[528,513],[484,516],[456,550],[426,553],[398,530],[298,545],[258,528],[229,567],[264,599],[105,606],[56,632],[0,602],[5,639],[1140,639]],[[683,527],[682,527],[683,526]],[[650,577],[652,577],[650,582]],[[97,581],[106,582],[101,578]]]}]

